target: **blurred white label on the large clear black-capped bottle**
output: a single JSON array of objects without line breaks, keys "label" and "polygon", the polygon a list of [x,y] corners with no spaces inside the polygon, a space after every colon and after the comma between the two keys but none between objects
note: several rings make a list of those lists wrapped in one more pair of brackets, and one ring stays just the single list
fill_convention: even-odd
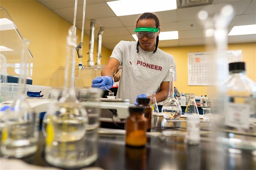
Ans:
[{"label": "blurred white label on the large clear black-capped bottle", "polygon": [[250,105],[227,102],[225,105],[225,125],[233,128],[249,129]]}]

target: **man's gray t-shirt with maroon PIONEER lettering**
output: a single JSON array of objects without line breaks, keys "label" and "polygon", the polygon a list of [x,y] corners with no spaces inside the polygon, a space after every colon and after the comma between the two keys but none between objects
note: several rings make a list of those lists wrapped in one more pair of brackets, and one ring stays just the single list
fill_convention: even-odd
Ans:
[{"label": "man's gray t-shirt with maroon PIONEER lettering", "polygon": [[136,41],[120,41],[114,48],[110,58],[116,58],[122,65],[122,75],[119,81],[117,97],[129,99],[134,103],[139,94],[156,93],[162,82],[170,81],[170,66],[176,67],[172,55],[160,50],[147,52],[139,47],[137,53]]}]

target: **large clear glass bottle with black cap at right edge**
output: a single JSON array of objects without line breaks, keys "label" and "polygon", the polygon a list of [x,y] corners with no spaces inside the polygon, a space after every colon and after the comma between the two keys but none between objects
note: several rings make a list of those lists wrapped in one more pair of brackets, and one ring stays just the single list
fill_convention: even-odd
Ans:
[{"label": "large clear glass bottle with black cap at right edge", "polygon": [[[255,83],[245,74],[245,63],[229,63],[224,82],[224,121],[220,140],[232,148],[256,150]],[[253,85],[254,84],[254,85]],[[253,102],[254,101],[254,102]]]}]

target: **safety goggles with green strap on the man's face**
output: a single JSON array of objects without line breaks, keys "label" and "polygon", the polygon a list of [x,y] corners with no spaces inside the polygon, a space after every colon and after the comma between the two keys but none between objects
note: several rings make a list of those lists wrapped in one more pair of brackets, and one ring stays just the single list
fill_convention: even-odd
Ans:
[{"label": "safety goggles with green strap on the man's face", "polygon": [[159,28],[138,27],[134,29],[134,32],[138,38],[142,38],[144,35],[146,35],[148,38],[155,38],[159,32]]}]

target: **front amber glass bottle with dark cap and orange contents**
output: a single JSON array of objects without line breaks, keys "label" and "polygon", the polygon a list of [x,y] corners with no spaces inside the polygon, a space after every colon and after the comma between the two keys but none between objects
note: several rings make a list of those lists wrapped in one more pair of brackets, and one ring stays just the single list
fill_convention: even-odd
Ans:
[{"label": "front amber glass bottle with dark cap and orange contents", "polygon": [[129,107],[130,116],[126,119],[126,145],[143,147],[146,145],[147,119],[144,106]]}]

